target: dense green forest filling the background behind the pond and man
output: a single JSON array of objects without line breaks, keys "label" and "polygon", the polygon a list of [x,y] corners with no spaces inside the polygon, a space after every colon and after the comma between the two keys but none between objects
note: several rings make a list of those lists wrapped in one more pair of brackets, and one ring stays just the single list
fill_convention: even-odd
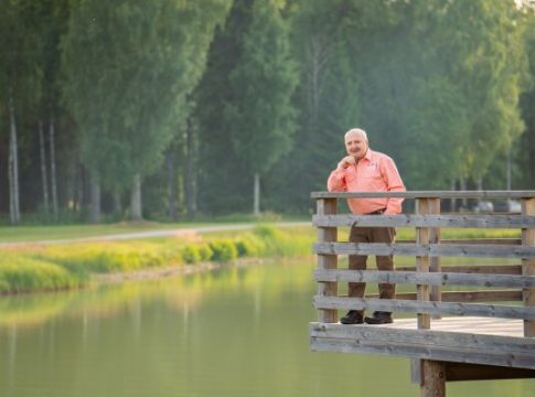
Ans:
[{"label": "dense green forest filling the background behind the pond and man", "polygon": [[310,214],[367,131],[407,190],[535,189],[529,0],[0,0],[0,223]]}]

